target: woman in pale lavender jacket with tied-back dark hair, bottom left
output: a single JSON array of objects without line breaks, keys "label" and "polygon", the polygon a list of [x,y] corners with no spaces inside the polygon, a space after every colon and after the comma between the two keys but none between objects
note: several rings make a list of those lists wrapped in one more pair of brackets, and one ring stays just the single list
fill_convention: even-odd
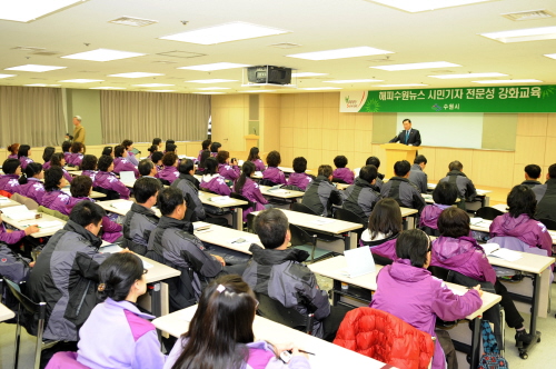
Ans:
[{"label": "woman in pale lavender jacket with tied-back dark hair, bottom left", "polygon": [[92,309],[79,330],[77,361],[88,368],[162,368],[153,316],[137,307],[147,292],[145,269],[136,255],[113,253],[99,268],[99,296],[103,300]]}]

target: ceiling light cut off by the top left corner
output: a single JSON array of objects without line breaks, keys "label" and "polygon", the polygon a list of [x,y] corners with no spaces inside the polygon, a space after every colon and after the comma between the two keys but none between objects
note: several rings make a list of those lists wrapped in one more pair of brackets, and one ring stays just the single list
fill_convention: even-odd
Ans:
[{"label": "ceiling light cut off by the top left corner", "polygon": [[18,0],[3,1],[0,19],[29,22],[39,17],[67,8],[82,0]]}]

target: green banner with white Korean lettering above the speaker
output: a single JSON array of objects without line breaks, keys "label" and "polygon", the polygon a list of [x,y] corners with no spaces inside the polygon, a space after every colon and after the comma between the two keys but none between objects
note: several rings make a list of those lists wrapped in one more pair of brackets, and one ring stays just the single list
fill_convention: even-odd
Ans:
[{"label": "green banner with white Korean lettering above the speaker", "polygon": [[556,86],[342,91],[341,112],[556,112]]}]

